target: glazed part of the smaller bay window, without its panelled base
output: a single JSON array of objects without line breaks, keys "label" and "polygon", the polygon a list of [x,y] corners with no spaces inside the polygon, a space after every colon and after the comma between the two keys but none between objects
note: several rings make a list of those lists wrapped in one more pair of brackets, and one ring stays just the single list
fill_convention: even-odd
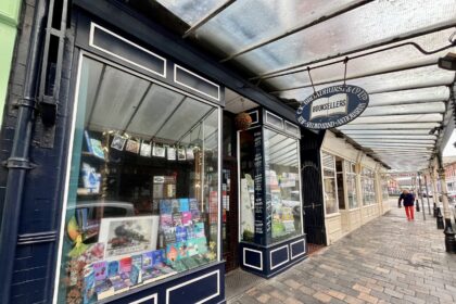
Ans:
[{"label": "glazed part of the smaller bay window, without its panelled base", "polygon": [[273,244],[303,233],[299,140],[269,127],[239,132],[240,240]]}]

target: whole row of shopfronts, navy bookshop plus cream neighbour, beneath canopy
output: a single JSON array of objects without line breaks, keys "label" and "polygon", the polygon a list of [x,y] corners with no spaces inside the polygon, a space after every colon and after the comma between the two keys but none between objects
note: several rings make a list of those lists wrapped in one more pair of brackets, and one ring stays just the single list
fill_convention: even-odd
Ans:
[{"label": "whole row of shopfronts, navy bookshop plus cream neighbour, beneath canopy", "polygon": [[59,3],[22,9],[2,303],[224,303],[226,270],[273,277],[388,211],[385,169],[331,131],[125,3]]}]

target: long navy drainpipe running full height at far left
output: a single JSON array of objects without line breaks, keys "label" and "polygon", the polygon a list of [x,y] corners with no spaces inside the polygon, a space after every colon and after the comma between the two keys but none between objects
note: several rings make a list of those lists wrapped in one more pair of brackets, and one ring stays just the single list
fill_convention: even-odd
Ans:
[{"label": "long navy drainpipe running full height at far left", "polygon": [[25,178],[34,167],[28,157],[35,118],[39,67],[41,62],[42,29],[47,12],[46,0],[37,0],[30,33],[23,97],[17,102],[17,121],[8,167],[7,191],[0,230],[0,303],[10,303],[11,281],[17,243],[21,206]]}]

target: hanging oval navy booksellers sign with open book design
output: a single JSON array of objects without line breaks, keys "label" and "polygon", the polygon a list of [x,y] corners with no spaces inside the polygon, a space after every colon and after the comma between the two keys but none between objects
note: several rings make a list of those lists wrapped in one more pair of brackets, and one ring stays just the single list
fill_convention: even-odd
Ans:
[{"label": "hanging oval navy booksellers sign with open book design", "polygon": [[296,110],[296,119],[308,129],[335,128],[358,117],[369,103],[365,89],[340,85],[306,98]]}]

